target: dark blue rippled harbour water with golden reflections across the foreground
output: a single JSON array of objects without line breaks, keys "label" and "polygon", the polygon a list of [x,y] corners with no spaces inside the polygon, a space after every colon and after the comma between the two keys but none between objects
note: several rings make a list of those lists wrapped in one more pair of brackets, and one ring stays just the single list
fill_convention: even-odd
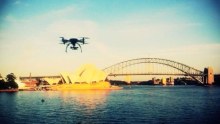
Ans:
[{"label": "dark blue rippled harbour water with golden reflections across the foreground", "polygon": [[220,87],[0,93],[0,123],[220,123]]}]

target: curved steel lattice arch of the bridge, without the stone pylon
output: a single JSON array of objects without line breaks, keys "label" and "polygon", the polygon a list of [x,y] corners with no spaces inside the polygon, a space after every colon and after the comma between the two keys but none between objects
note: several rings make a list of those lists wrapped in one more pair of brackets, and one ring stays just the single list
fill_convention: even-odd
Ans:
[{"label": "curved steel lattice arch of the bridge, without the stone pylon", "polygon": [[[126,67],[137,65],[137,64],[143,64],[143,63],[155,63],[155,64],[162,64],[166,65],[168,67],[177,69],[182,72],[182,74],[173,74],[173,75],[183,75],[183,76],[190,76],[194,80],[198,81],[199,83],[204,84],[203,77],[205,74],[193,67],[190,67],[188,65],[185,65],[183,63],[179,63],[176,61],[168,60],[168,59],[162,59],[162,58],[137,58],[137,59],[131,59],[123,62],[119,62],[117,64],[114,64],[112,66],[109,66],[105,69],[103,69],[104,72],[108,74],[108,76],[122,76],[122,75],[128,75],[126,73],[116,73],[119,70],[122,70]],[[132,74],[130,74],[132,75]],[[133,74],[135,75],[135,74]],[[136,75],[157,75],[157,74],[136,74]],[[163,75],[163,74],[158,74]]]}]

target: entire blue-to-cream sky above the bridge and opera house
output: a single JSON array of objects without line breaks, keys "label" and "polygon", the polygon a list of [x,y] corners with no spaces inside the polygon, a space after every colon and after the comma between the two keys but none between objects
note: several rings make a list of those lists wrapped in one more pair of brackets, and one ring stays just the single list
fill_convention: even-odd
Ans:
[{"label": "entire blue-to-cream sky above the bridge and opera house", "polygon": [[[0,0],[0,73],[58,75],[164,58],[220,73],[218,0]],[[59,37],[89,37],[82,53]]]}]

